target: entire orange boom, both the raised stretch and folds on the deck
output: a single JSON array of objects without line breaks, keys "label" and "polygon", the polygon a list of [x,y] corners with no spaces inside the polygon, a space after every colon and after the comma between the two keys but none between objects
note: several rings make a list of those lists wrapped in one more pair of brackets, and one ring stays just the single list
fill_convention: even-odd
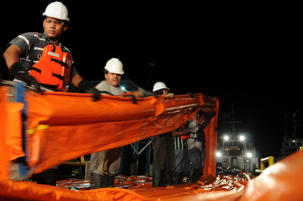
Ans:
[{"label": "entire orange boom, both the raised stretch and folds on the deck", "polygon": [[[203,94],[174,99],[132,98],[51,92],[39,94],[23,84],[0,83],[0,200],[166,200],[264,201],[301,200],[303,152],[294,153],[264,169],[259,176],[215,176],[217,116],[205,129],[206,160],[195,183],[136,189],[66,189],[17,181],[73,158],[124,146],[182,125],[198,110],[218,114],[218,100]],[[24,136],[22,117],[27,115]],[[93,137],[93,138],[92,138]],[[23,159],[23,160],[21,160]],[[16,177],[14,177],[14,175]],[[89,182],[88,182],[89,183]]]}]

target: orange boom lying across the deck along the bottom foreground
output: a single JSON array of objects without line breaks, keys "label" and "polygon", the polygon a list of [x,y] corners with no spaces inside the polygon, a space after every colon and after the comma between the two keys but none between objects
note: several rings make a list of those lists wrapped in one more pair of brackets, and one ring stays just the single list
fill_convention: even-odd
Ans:
[{"label": "orange boom lying across the deck along the bottom foreground", "polygon": [[[75,190],[35,182],[12,181],[0,178],[0,200],[109,200],[109,201],[285,201],[302,200],[303,153],[294,153],[267,167],[262,174],[252,177],[244,172],[237,176],[203,175],[195,183],[184,183],[167,187],[152,188],[151,183],[134,189],[101,188]],[[67,180],[66,182],[69,183]],[[89,186],[89,181],[86,181]],[[75,182],[76,183],[76,182]],[[79,186],[79,184],[75,184]],[[70,186],[70,185],[68,185]],[[114,185],[115,186],[115,185]],[[140,188],[142,187],[142,188]],[[89,188],[89,187],[88,187]]]}]

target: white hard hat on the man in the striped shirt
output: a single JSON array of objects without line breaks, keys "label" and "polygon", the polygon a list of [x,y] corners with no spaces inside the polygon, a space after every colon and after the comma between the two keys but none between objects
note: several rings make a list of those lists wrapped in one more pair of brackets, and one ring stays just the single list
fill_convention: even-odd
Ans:
[{"label": "white hard hat on the man in the striped shirt", "polygon": [[68,19],[68,10],[65,5],[63,5],[61,2],[52,2],[48,4],[48,6],[45,9],[45,12],[42,13],[43,16],[48,16],[52,18],[57,18],[60,20],[66,20]]}]

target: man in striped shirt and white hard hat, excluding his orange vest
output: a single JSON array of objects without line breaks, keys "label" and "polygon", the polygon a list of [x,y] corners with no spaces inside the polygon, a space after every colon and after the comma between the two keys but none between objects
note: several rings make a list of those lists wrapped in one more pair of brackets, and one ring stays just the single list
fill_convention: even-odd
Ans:
[{"label": "man in striped shirt and white hard hat, excluding his orange vest", "polygon": [[[26,14],[27,13],[24,13],[24,15]],[[43,84],[43,82],[36,80],[29,74],[29,72],[33,69],[32,66],[34,64],[38,64],[40,60],[43,60],[41,58],[42,54],[44,53],[44,48],[48,45],[52,45],[55,47],[55,49],[57,47],[61,49],[61,53],[68,53],[70,57],[72,57],[72,53],[63,45],[60,38],[63,31],[65,31],[68,27],[69,18],[66,6],[61,2],[52,2],[46,7],[45,12],[42,13],[42,16],[44,16],[44,32],[28,32],[17,36],[7,44],[8,48],[4,52],[3,58],[5,59],[8,69],[10,70],[9,72],[11,72],[11,74],[15,77],[14,81],[28,84],[29,86],[32,86],[32,90],[43,93],[44,91],[58,91],[57,85]],[[86,93],[93,94],[93,101],[96,101],[100,96],[98,90],[95,89],[94,85],[84,80],[78,74],[73,63],[74,59],[72,57],[70,63],[70,77],[68,77],[68,80],[71,81],[75,87],[84,90]],[[52,64],[49,64],[49,68],[53,68]],[[66,78],[67,77],[63,77],[62,79]],[[26,114],[22,115],[25,115],[26,117]],[[24,128],[22,130],[26,129]],[[58,169],[58,167],[52,167],[52,169]],[[38,180],[38,176],[39,175],[37,175],[37,183],[53,186],[56,185],[56,180],[51,182],[49,182],[47,179],[40,181]]]}]

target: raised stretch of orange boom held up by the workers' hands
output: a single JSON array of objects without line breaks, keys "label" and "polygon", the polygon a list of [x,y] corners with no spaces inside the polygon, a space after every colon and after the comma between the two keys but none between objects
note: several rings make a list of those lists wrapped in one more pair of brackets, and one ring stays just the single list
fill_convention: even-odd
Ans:
[{"label": "raised stretch of orange boom held up by the workers' hands", "polygon": [[[218,99],[193,96],[137,98],[32,91],[22,83],[2,81],[2,179],[24,180],[65,161],[122,147],[179,128],[199,110],[218,114]],[[22,132],[22,117],[26,116]],[[205,128],[204,174],[215,175],[217,115]]]}]

